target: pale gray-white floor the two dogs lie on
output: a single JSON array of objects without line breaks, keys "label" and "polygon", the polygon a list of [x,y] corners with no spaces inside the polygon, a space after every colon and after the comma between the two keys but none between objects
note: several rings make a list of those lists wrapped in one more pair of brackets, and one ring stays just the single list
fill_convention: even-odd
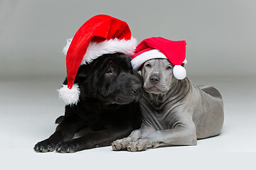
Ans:
[{"label": "pale gray-white floor the two dogs lie on", "polygon": [[33,146],[55,129],[64,104],[55,89],[63,77],[8,78],[0,81],[0,160],[4,169],[254,169],[256,156],[256,77],[190,77],[219,89],[224,98],[221,135],[194,147],[146,152],[113,152],[111,147],[75,154],[36,153]]}]

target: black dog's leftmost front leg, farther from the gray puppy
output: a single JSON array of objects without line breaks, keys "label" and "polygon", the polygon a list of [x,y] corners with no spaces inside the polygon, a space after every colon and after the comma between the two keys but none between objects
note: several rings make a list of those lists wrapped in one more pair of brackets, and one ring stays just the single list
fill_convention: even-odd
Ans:
[{"label": "black dog's leftmost front leg, farther from the gray puppy", "polygon": [[46,140],[38,142],[34,150],[36,152],[52,152],[59,142],[72,139],[75,132],[80,130],[83,126],[84,124],[75,115],[65,115],[53,135],[50,135]]}]

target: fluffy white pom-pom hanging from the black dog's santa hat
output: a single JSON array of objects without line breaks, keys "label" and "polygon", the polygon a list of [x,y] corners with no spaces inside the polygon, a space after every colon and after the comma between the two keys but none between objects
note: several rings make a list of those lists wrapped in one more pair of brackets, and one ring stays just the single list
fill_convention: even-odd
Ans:
[{"label": "fluffy white pom-pom hanging from the black dog's santa hat", "polygon": [[59,98],[64,101],[65,105],[76,105],[80,96],[78,84],[74,84],[71,89],[68,89],[68,85],[63,84],[62,86],[58,89]]}]

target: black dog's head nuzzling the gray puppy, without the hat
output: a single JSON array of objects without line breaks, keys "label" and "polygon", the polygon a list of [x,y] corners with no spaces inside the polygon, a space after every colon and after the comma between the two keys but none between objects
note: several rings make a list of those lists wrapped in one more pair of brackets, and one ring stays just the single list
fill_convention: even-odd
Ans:
[{"label": "black dog's head nuzzling the gray puppy, without the hat", "polygon": [[97,98],[105,103],[127,104],[139,101],[142,80],[134,72],[131,60],[121,53],[102,55],[80,66],[75,77],[80,101]]}]

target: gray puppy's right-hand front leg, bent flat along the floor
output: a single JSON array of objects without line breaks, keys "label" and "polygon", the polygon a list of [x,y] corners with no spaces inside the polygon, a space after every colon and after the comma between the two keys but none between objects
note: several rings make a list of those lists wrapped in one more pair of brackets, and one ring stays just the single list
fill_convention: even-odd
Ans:
[{"label": "gray puppy's right-hand front leg, bent flat along the floor", "polygon": [[140,140],[130,142],[127,145],[127,150],[136,152],[145,150],[148,146],[156,148],[171,145],[196,145],[196,143],[196,127],[190,124],[176,126],[176,128],[169,130],[156,130]]}]

